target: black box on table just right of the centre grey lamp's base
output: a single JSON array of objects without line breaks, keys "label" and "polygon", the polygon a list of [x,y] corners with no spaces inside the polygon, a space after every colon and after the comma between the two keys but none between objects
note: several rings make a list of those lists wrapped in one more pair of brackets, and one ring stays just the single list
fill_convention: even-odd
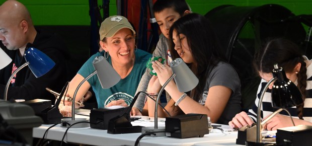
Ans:
[{"label": "black box on table just right of the centre grey lamp's base", "polygon": [[166,118],[166,136],[175,138],[203,137],[209,133],[205,114],[185,114]]}]

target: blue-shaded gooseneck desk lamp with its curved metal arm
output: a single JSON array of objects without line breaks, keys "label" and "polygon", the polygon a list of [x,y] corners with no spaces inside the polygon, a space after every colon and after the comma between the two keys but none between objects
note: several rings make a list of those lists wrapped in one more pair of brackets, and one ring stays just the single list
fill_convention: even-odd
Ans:
[{"label": "blue-shaded gooseneck desk lamp with its curved metal arm", "polygon": [[[2,49],[0,49],[0,50],[2,50]],[[5,93],[4,93],[4,100],[5,101],[7,100],[8,89],[9,89],[11,80],[17,74],[17,72],[20,71],[22,68],[24,68],[25,66],[28,65],[30,70],[35,75],[35,77],[39,78],[39,77],[43,76],[44,74],[46,74],[48,71],[50,71],[55,65],[55,62],[50,57],[48,57],[46,54],[44,54],[43,52],[41,52],[38,49],[33,48],[33,47],[30,47],[27,50],[25,50],[24,57],[25,57],[26,62],[23,65],[21,65],[20,67],[18,67],[13,72],[13,74],[11,75],[11,77],[8,80],[8,83],[7,83],[6,89],[5,89]]]}]

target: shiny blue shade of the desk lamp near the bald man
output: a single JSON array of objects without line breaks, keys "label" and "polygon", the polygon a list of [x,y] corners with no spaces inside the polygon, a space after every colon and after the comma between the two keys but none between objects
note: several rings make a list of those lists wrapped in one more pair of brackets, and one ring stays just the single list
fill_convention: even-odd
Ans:
[{"label": "shiny blue shade of the desk lamp near the bald man", "polygon": [[36,78],[46,74],[55,65],[55,62],[49,56],[33,47],[28,48],[24,56],[26,61],[29,62],[28,67]]}]

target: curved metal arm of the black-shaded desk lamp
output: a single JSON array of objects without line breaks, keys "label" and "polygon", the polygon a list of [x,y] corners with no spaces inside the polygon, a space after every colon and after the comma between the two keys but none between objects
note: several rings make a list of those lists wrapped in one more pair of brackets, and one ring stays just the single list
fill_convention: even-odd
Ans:
[{"label": "curved metal arm of the black-shaded desk lamp", "polygon": [[273,83],[276,80],[277,80],[277,78],[274,77],[267,83],[267,85],[264,87],[264,89],[263,89],[263,91],[261,93],[260,99],[259,99],[258,109],[257,109],[257,139],[256,139],[257,142],[261,142],[261,138],[260,138],[260,135],[261,135],[260,124],[261,124],[261,122],[260,121],[261,121],[262,100],[263,100],[264,94],[267,91],[267,89],[269,88],[270,84]]}]

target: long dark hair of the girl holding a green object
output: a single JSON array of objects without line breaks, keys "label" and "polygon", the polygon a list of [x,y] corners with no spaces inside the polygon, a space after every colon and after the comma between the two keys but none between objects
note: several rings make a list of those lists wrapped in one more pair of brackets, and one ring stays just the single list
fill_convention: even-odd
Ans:
[{"label": "long dark hair of the girl holding a green object", "polygon": [[[202,98],[203,89],[206,85],[206,72],[208,68],[214,67],[220,60],[225,60],[221,52],[218,39],[213,32],[210,22],[207,18],[199,14],[187,14],[177,20],[169,31],[169,50],[173,59],[179,58],[179,54],[174,49],[173,31],[177,35],[184,34],[187,43],[192,52],[194,62],[188,64],[196,77],[199,79],[198,85],[188,93],[195,101]],[[181,48],[182,49],[182,48]]]}]

